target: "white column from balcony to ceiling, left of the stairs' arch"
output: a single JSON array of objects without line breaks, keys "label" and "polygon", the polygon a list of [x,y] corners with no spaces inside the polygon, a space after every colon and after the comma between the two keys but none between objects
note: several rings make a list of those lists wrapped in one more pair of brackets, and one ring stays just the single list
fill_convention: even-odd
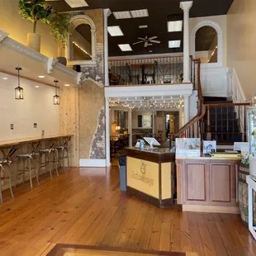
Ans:
[{"label": "white column from balcony to ceiling, left of the stairs' arch", "polygon": [[[189,72],[189,10],[193,5],[193,1],[180,2],[180,7],[184,12],[183,19],[183,83],[190,83],[190,72]],[[185,121],[186,122],[186,121]]]}]

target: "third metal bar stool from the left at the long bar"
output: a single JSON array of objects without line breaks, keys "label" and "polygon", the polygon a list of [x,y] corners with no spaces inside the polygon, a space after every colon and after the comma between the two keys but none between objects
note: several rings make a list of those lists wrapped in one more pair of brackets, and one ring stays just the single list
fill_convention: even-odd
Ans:
[{"label": "third metal bar stool from the left at the long bar", "polygon": [[[59,161],[59,155],[58,155],[58,150],[55,149],[55,140],[52,141],[52,145],[50,145],[49,149],[39,149],[39,159],[40,159],[40,164],[39,164],[39,174],[40,174],[40,168],[45,167],[45,171],[47,173],[47,166],[49,167],[49,172],[50,172],[50,178],[52,178],[52,170],[53,170],[53,165],[55,164],[55,169],[57,176],[59,176],[58,172],[58,161]],[[45,163],[42,162],[43,156],[45,156]]]}]

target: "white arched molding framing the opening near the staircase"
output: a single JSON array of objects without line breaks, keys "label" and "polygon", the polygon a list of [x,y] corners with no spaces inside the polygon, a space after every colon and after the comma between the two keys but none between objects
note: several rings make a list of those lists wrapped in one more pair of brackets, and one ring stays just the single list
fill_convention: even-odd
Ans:
[{"label": "white arched molding framing the opening near the staircase", "polygon": [[200,21],[196,24],[196,26],[193,27],[191,32],[191,54],[195,58],[196,54],[196,34],[197,31],[203,27],[203,26],[211,26],[214,28],[218,35],[218,62],[217,63],[211,63],[206,64],[209,67],[222,67],[223,66],[223,31],[221,26],[216,21],[206,20],[206,21]]}]

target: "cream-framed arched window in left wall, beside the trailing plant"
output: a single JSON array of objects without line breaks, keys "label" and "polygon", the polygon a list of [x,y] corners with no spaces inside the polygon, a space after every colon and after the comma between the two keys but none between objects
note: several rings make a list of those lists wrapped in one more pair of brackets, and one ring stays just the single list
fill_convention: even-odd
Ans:
[{"label": "cream-framed arched window in left wall, beside the trailing plant", "polygon": [[69,65],[96,64],[96,26],[90,17],[71,18],[73,30],[66,52]]}]

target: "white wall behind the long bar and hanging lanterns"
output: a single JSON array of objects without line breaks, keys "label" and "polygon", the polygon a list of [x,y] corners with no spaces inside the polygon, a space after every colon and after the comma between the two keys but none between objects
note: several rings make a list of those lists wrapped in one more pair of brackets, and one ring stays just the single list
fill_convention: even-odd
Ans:
[{"label": "white wall behind the long bar and hanging lanterns", "polygon": [[41,135],[42,130],[45,135],[59,134],[59,106],[53,104],[55,88],[21,79],[24,100],[18,101],[14,98],[17,77],[8,76],[7,80],[2,77],[6,75],[0,73],[0,140],[33,137]]}]

